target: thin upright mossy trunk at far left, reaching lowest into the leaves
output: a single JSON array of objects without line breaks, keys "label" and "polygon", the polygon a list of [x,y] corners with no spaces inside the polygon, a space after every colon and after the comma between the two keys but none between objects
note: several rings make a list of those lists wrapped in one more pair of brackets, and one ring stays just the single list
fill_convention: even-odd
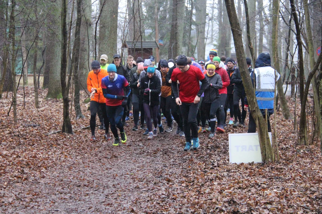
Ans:
[{"label": "thin upright mossy trunk at far left, reaching lowest into the leaves", "polygon": [[16,86],[16,71],[15,71],[15,62],[16,62],[16,51],[15,50],[15,6],[16,3],[14,0],[11,0],[11,13],[10,13],[10,29],[9,29],[9,36],[12,40],[12,55],[11,55],[11,73],[12,73],[12,81],[13,81],[13,97],[12,97],[12,106],[14,109],[14,123],[17,123],[17,86]]}]

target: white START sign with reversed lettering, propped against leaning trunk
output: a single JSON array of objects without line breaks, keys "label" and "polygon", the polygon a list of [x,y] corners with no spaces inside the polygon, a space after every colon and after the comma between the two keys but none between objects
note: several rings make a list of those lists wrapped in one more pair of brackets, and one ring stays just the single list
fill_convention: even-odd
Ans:
[{"label": "white START sign with reversed lettering, propped against leaning trunk", "polygon": [[[269,132],[270,143],[272,133]],[[229,162],[230,163],[260,163],[260,142],[257,133],[229,134]]]}]

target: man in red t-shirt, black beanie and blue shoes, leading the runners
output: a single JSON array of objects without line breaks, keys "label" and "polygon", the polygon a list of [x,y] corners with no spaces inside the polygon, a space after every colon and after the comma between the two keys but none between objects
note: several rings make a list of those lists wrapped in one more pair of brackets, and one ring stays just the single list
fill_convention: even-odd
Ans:
[{"label": "man in red t-shirt, black beanie and blue shoes, leading the runners", "polygon": [[[191,148],[197,149],[200,146],[196,117],[198,103],[207,86],[207,81],[199,68],[188,64],[186,56],[180,55],[176,64],[177,67],[171,75],[171,86],[175,96],[175,102],[180,106],[183,118],[183,129],[186,141],[184,150],[187,151]],[[199,86],[199,81],[202,83],[201,87]],[[191,138],[193,145],[191,145]]]}]

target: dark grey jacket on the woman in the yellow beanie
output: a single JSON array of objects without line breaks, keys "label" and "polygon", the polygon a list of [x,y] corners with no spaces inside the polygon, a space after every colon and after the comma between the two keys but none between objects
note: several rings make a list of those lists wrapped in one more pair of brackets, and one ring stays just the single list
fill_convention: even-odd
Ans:
[{"label": "dark grey jacket on the woman in the yellow beanie", "polygon": [[212,103],[220,98],[218,89],[223,87],[223,81],[218,73],[215,73],[212,77],[208,77],[208,75],[205,74],[204,78],[207,80],[207,87],[204,90],[203,102]]}]

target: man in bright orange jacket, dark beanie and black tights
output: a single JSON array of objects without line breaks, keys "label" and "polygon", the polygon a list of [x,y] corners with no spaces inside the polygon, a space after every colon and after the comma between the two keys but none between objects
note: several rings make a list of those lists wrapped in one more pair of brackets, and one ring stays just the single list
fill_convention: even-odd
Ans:
[{"label": "man in bright orange jacket, dark beanie and black tights", "polygon": [[91,64],[92,71],[87,76],[87,89],[90,91],[90,131],[92,136],[91,141],[96,140],[95,138],[95,127],[96,127],[96,113],[98,108],[102,110],[104,125],[105,125],[105,139],[111,139],[109,133],[109,119],[106,114],[105,97],[101,88],[101,81],[104,77],[108,76],[107,70],[101,69],[99,61],[94,60]]}]

